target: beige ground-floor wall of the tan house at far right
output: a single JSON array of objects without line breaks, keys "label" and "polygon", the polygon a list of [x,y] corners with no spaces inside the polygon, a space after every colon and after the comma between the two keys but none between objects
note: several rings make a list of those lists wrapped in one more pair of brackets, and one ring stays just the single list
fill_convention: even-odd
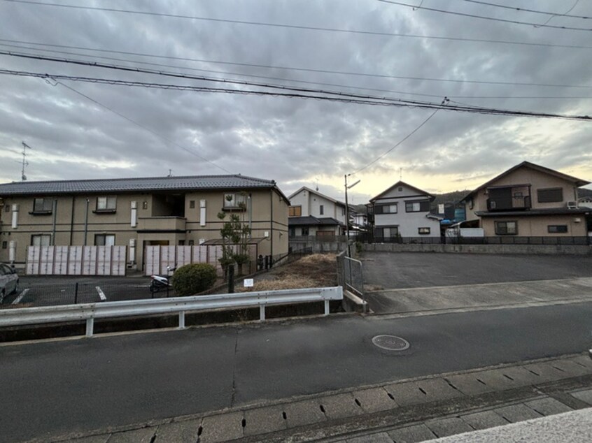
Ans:
[{"label": "beige ground-floor wall of the tan house at far right", "polygon": [[[577,222],[579,219],[579,222]],[[583,215],[553,215],[553,216],[529,216],[521,217],[519,214],[512,217],[485,217],[481,219],[486,237],[495,236],[495,222],[518,222],[519,237],[547,237],[561,235],[564,237],[584,237],[586,231],[586,219]],[[549,233],[549,225],[566,225],[567,233]]]}]

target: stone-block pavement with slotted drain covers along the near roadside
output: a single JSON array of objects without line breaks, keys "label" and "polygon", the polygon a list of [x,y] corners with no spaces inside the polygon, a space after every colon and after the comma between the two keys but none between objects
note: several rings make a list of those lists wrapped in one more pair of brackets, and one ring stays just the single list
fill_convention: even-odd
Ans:
[{"label": "stone-block pavement with slotted drain covers along the near roadside", "polygon": [[34,441],[421,442],[591,405],[592,360],[578,354]]}]

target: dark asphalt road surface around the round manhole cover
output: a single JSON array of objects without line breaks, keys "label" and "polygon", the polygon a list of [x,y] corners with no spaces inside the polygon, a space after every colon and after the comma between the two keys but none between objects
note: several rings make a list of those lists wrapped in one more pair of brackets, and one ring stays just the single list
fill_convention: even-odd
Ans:
[{"label": "dark asphalt road surface around the round manhole cover", "polygon": [[[0,440],[105,429],[581,352],[592,303],[388,319],[342,316],[0,347]],[[411,343],[400,354],[372,337]]]}]

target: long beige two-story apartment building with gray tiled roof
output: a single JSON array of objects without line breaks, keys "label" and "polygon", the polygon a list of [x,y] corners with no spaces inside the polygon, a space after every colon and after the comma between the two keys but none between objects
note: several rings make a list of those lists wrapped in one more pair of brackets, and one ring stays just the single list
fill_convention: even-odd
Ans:
[{"label": "long beige two-story apartment building with gray tiled roof", "polygon": [[29,245],[133,245],[141,268],[146,246],[219,239],[220,212],[251,227],[258,254],[288,253],[288,198],[274,180],[209,175],[0,184],[0,261],[24,263]]}]

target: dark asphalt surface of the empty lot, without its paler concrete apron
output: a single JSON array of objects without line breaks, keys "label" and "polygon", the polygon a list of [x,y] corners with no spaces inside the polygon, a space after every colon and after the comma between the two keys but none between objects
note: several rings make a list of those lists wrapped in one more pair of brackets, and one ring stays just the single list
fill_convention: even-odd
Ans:
[{"label": "dark asphalt surface of the empty lot, without its paler concrete apron", "polygon": [[365,252],[364,282],[380,289],[592,277],[592,256]]}]

